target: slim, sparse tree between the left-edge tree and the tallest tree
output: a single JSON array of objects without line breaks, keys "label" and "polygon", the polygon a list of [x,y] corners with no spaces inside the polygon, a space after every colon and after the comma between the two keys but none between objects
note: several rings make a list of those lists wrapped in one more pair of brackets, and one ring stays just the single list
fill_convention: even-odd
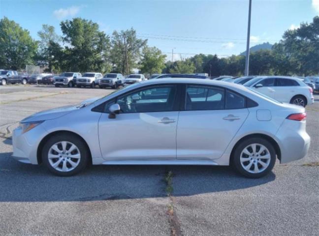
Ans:
[{"label": "slim, sparse tree between the left-edge tree and the tallest tree", "polygon": [[[52,50],[52,46],[53,45],[58,45],[61,42],[61,37],[56,34],[55,32],[55,28],[53,26],[49,26],[49,25],[42,25],[42,29],[40,31],[38,31],[38,36],[40,38],[39,42],[38,42],[38,59],[37,59],[37,64],[41,65],[41,66],[48,66],[48,71],[52,71],[52,56],[49,53],[49,47],[51,47]],[[59,49],[59,47],[57,48]]]}]

